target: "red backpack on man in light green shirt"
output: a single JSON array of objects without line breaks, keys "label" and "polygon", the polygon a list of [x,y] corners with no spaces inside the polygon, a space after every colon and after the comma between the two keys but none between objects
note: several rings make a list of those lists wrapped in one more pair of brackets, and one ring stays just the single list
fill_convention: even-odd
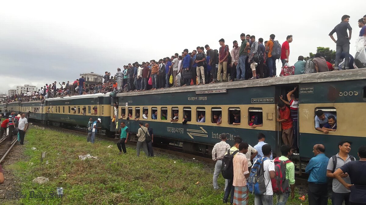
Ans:
[{"label": "red backpack on man in light green shirt", "polygon": [[275,173],[276,177],[271,179],[273,193],[282,194],[288,192],[290,184],[288,179],[286,179],[286,164],[292,162],[291,160],[282,161],[276,157],[273,160],[275,163]]}]

